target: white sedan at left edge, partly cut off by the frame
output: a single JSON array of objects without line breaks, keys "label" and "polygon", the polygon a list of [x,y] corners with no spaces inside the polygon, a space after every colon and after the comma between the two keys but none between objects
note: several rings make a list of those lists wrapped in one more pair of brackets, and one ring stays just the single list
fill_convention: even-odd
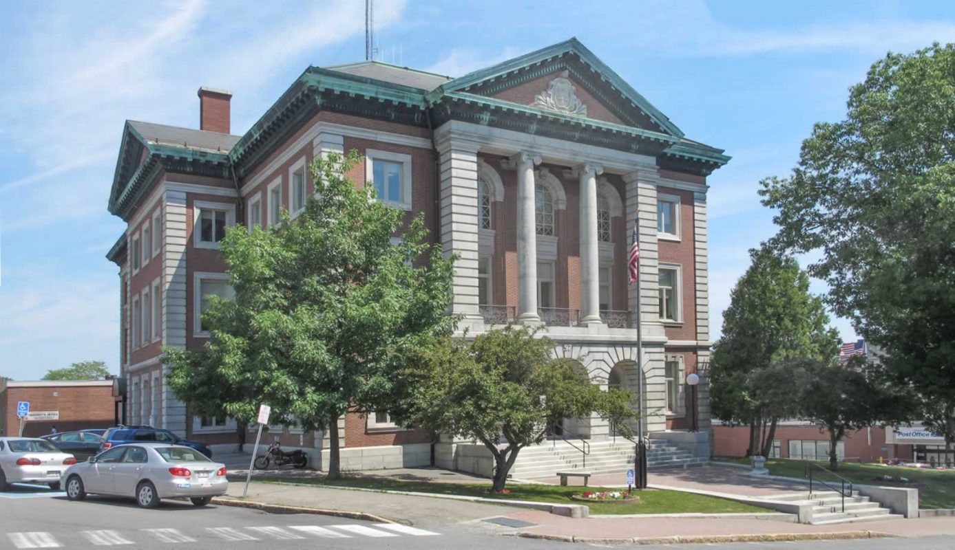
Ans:
[{"label": "white sedan at left edge, partly cut off by the frame", "polygon": [[0,438],[0,491],[10,483],[43,483],[54,491],[60,476],[76,458],[38,438]]}]

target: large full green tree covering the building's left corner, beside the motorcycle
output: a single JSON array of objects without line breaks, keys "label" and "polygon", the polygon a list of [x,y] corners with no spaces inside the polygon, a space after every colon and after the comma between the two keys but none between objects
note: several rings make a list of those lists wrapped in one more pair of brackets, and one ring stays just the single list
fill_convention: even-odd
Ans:
[{"label": "large full green tree covering the building's left corner, beside the motorcycle", "polygon": [[354,151],[316,158],[305,212],[227,232],[221,252],[234,299],[210,300],[202,350],[167,350],[164,359],[170,386],[194,412],[252,423],[266,403],[279,422],[327,429],[332,479],[337,418],[401,393],[394,373],[405,357],[456,321],[447,314],[453,259],[427,242],[421,217],[392,244],[404,212],[349,179],[361,160]]}]

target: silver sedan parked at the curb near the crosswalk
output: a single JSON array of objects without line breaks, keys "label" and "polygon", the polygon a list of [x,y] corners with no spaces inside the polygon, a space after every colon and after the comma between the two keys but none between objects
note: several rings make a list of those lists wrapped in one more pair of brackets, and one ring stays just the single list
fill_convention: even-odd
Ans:
[{"label": "silver sedan parked at the curb near the crosswalk", "polygon": [[66,496],[82,500],[88,493],[133,497],[143,508],[159,499],[192,500],[205,506],[228,489],[225,465],[189,447],[145,442],[118,445],[63,473]]}]

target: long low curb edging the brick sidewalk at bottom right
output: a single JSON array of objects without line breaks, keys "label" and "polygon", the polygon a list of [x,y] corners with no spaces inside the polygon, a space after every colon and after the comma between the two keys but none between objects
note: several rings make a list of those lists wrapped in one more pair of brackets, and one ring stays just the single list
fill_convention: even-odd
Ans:
[{"label": "long low curb edging the brick sidewalk at bottom right", "polygon": [[725,542],[791,542],[795,540],[886,539],[894,535],[878,531],[841,531],[834,533],[768,533],[765,535],[697,535],[693,537],[572,537],[547,533],[520,532],[522,539],[558,540],[561,542],[590,542],[595,544],[714,544]]}]

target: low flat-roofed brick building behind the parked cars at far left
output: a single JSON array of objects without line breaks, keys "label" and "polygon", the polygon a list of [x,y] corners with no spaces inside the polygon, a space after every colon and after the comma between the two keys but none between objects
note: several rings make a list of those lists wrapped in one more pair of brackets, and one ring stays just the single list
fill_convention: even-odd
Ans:
[{"label": "low flat-roofed brick building behind the parked cars at far left", "polygon": [[117,380],[0,382],[0,436],[19,433],[19,401],[28,401],[34,416],[47,413],[24,423],[23,435],[27,437],[49,434],[53,426],[59,432],[114,426],[121,413],[117,390]]}]

